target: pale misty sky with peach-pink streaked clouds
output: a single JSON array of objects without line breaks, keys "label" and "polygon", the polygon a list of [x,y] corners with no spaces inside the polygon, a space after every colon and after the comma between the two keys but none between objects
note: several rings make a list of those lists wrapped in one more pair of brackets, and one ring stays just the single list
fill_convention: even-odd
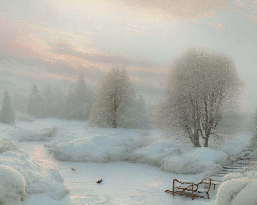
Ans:
[{"label": "pale misty sky with peach-pink streaked clouds", "polygon": [[33,83],[67,89],[84,71],[90,87],[126,66],[152,106],[172,61],[188,47],[230,55],[245,82],[242,110],[257,108],[257,0],[3,0],[0,93]]}]

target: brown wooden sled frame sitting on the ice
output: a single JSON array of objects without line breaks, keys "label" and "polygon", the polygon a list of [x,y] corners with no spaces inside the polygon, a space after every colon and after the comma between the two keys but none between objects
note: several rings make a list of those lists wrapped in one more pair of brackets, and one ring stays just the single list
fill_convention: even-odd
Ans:
[{"label": "brown wooden sled frame sitting on the ice", "polygon": [[[179,183],[178,186],[175,186],[175,181]],[[166,190],[165,192],[170,193],[173,196],[175,196],[175,193],[176,193],[179,195],[192,197],[192,200],[194,200],[195,197],[202,198],[204,196],[201,196],[200,193],[206,193],[209,199],[210,197],[208,192],[210,190],[211,185],[214,185],[214,189],[215,189],[216,184],[212,183],[211,179],[206,179],[206,178],[204,178],[202,181],[198,183],[186,182],[175,178],[173,179],[172,191]],[[177,191],[175,191],[175,189]]]}]

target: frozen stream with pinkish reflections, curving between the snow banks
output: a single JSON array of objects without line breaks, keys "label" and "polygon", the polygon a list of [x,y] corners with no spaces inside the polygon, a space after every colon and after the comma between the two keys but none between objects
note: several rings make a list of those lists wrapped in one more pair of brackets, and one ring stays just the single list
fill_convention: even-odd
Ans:
[{"label": "frozen stream with pinkish reflections, curving between the snow banks", "polygon": [[[179,175],[160,170],[148,164],[127,161],[95,163],[59,161],[49,153],[43,141],[23,141],[17,144],[51,171],[61,168],[64,184],[70,192],[59,201],[54,201],[45,193],[30,194],[22,205],[45,204],[214,204],[216,190],[211,190],[210,199],[167,194],[164,191],[172,186],[173,178],[190,181],[195,175]],[[75,168],[76,171],[72,171]],[[96,181],[103,178],[103,182]]]}]

